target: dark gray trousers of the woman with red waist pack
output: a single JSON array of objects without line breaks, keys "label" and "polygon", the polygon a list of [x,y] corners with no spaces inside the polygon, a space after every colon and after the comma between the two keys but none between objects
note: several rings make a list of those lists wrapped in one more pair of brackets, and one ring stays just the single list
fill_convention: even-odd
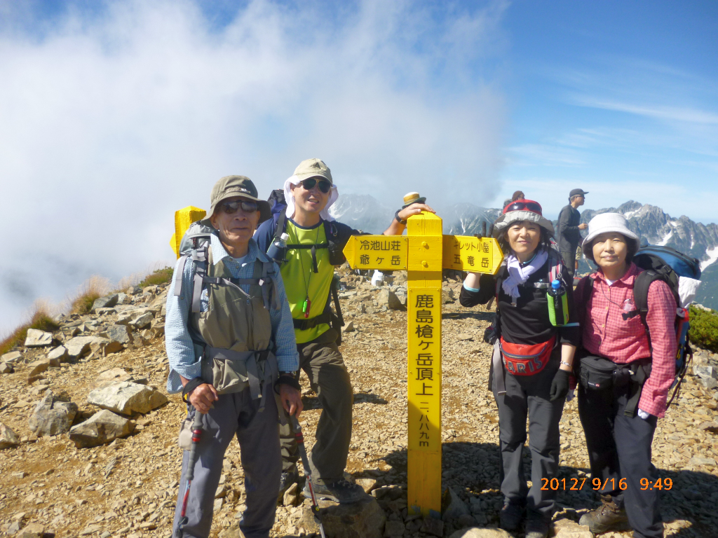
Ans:
[{"label": "dark gray trousers of the woman with red waist pack", "polygon": [[[516,376],[506,372],[506,393],[498,395],[496,381],[493,394],[498,405],[499,446],[501,450],[499,480],[506,502],[526,505],[528,518],[546,521],[554,514],[556,491],[541,490],[541,478],[554,478],[559,471],[559,421],[564,412],[564,398],[551,402],[551,381],[561,361],[561,346],[551,354],[549,364],[533,375]],[[495,376],[494,376],[495,377]],[[523,472],[523,443],[526,443],[528,414],[528,448],[531,450],[531,489]]]}]

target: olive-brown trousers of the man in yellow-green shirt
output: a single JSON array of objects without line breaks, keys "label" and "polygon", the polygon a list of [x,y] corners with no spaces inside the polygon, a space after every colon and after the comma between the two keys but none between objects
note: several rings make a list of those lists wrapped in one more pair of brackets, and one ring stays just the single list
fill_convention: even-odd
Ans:
[{"label": "olive-brown trousers of the man in yellow-green shirt", "polygon": [[[352,438],[354,395],[349,372],[336,344],[337,333],[329,329],[317,339],[297,344],[299,367],[307,373],[312,390],[322,404],[317,442],[309,454],[312,480],[331,483],[344,475]],[[296,472],[299,452],[291,425],[279,428],[282,471]]]}]

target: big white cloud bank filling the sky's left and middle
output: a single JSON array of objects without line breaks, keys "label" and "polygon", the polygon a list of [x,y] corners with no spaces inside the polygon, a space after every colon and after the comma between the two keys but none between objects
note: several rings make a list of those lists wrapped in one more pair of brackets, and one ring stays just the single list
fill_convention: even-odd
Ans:
[{"label": "big white cloud bank filling the sky's left and middle", "polygon": [[91,273],[171,262],[174,210],[226,174],[269,194],[320,156],[340,192],[495,196],[504,104],[475,73],[505,3],[299,5],[251,1],[215,31],[189,1],[112,2],[38,35],[0,4],[0,331]]}]

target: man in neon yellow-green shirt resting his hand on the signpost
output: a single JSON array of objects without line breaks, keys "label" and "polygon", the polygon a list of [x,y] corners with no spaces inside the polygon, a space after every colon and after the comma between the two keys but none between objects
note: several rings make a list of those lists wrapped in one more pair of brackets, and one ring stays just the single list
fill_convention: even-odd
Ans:
[{"label": "man in neon yellow-green shirt resting his hand on the signpost", "polygon": [[[286,232],[286,261],[281,275],[292,308],[299,351],[299,366],[307,373],[312,389],[322,403],[317,442],[309,464],[317,495],[340,503],[360,501],[363,489],[345,480],[352,435],[353,391],[349,373],[337,346],[340,334],[330,326],[330,291],[334,266],[345,262],[342,249],[352,235],[362,232],[336,222],[328,209],[336,202],[337,187],[332,173],[320,159],[307,159],[297,166],[284,184],[284,204],[276,203],[274,218],[264,222],[255,238],[266,252]],[[425,199],[410,200],[396,212],[385,235],[401,235],[406,220],[422,211],[434,212]],[[338,327],[337,327],[338,329]],[[280,492],[299,480],[297,443],[289,427],[280,428],[282,476]],[[304,495],[308,496],[307,486]]]}]

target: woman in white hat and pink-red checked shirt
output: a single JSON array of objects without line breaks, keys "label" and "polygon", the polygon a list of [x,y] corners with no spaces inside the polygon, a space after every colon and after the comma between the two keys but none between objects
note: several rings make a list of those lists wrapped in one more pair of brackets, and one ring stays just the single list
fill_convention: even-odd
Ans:
[{"label": "woman in white hat and pink-red checked shirt", "polygon": [[[628,523],[635,537],[663,537],[651,443],[675,374],[676,300],[668,284],[651,283],[645,316],[649,342],[635,315],[633,288],[643,271],[633,263],[638,235],[623,215],[604,213],[589,222],[582,247],[598,269],[582,278],[574,293],[582,326],[579,417],[591,476],[605,489],[600,490],[602,506],[582,516],[581,524],[600,533]],[[638,379],[645,379],[642,390]]]}]

